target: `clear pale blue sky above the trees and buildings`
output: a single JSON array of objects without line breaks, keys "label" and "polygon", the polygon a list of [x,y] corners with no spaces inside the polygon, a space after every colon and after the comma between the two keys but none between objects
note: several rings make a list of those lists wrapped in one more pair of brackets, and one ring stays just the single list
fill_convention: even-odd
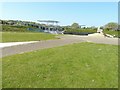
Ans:
[{"label": "clear pale blue sky above the trees and buildings", "polygon": [[73,22],[86,26],[101,26],[118,21],[117,2],[6,2],[0,19],[58,20],[60,25]]}]

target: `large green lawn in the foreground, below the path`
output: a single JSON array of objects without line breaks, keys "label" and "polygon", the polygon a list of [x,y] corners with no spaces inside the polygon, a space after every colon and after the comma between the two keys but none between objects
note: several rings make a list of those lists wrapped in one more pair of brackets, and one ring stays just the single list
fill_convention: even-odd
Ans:
[{"label": "large green lawn in the foreground, below the path", "polygon": [[7,56],[3,88],[117,88],[118,46],[80,43]]}]

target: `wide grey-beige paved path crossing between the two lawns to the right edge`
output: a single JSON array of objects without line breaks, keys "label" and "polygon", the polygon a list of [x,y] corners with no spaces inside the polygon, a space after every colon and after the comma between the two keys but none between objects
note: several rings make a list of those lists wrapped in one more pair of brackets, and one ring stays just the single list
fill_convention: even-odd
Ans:
[{"label": "wide grey-beige paved path crossing between the two lawns to the right edge", "polygon": [[80,42],[95,42],[95,43],[118,45],[117,38],[105,38],[105,37],[94,37],[94,36],[88,37],[88,36],[77,36],[77,35],[65,35],[65,36],[61,36],[60,38],[61,39],[57,39],[57,40],[46,40],[35,43],[4,47],[0,49],[0,51],[2,51],[2,55],[0,57],[20,54],[24,52],[30,52],[38,49],[40,50],[45,48],[63,46],[72,43],[80,43]]}]

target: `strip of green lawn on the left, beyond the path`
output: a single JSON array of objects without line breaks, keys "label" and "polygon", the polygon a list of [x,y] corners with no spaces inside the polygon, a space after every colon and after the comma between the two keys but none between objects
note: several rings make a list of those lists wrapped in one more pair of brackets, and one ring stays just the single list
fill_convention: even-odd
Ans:
[{"label": "strip of green lawn on the left, beyond the path", "polygon": [[55,39],[55,36],[56,35],[38,32],[2,32],[2,42],[48,40]]}]

